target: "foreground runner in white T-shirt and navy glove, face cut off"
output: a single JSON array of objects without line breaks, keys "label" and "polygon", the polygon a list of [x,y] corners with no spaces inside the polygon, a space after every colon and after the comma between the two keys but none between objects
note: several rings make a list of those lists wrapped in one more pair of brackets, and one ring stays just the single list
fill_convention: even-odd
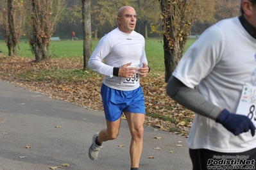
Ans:
[{"label": "foreground runner in white T-shirt and navy glove, face cut off", "polygon": [[255,169],[256,0],[206,29],[166,90],[196,112],[187,140],[194,170]]}]

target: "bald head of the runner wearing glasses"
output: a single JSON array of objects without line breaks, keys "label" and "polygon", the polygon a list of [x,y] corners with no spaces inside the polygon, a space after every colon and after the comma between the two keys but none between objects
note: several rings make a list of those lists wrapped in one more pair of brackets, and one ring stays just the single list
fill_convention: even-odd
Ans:
[{"label": "bald head of the runner wearing glasses", "polygon": [[121,15],[117,17],[118,27],[124,33],[132,33],[135,29],[137,15],[132,7],[127,7],[123,10]]}]

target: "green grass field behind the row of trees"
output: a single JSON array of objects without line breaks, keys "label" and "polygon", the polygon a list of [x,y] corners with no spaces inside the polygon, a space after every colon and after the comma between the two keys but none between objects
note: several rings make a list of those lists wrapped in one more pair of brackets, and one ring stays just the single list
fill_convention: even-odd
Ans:
[{"label": "green grass field behind the row of trees", "polygon": [[[186,49],[195,40],[188,40]],[[98,44],[98,40],[92,41],[92,49]],[[149,38],[146,40],[146,55],[148,63],[154,70],[164,71],[164,50],[163,43],[160,38]],[[8,48],[4,41],[0,41],[0,50],[3,54],[8,54]],[[19,49],[17,49],[17,55],[27,58],[35,58],[33,56],[30,46],[26,40],[21,40],[19,43]],[[82,40],[63,40],[60,42],[51,42],[49,47],[49,56],[51,58],[82,58],[83,57],[83,41]]]}]

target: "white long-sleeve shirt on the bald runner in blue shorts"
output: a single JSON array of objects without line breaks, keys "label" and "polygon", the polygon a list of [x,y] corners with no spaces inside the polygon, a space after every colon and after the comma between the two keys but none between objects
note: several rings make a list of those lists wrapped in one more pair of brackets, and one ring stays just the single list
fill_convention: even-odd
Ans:
[{"label": "white long-sleeve shirt on the bald runner in blue shorts", "polygon": [[143,62],[148,65],[144,37],[135,31],[130,34],[123,33],[117,27],[101,38],[90,56],[88,66],[91,70],[105,76],[103,83],[106,86],[130,91],[140,86],[139,75],[133,79],[132,84],[126,81],[127,78],[113,75],[114,67],[120,68],[130,62],[132,62],[131,66],[142,67]]}]

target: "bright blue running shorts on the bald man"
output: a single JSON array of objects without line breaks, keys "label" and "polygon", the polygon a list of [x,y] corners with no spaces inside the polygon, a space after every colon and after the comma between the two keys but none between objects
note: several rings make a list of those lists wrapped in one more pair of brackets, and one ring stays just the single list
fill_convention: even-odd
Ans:
[{"label": "bright blue running shorts on the bald man", "polygon": [[145,114],[145,100],[141,86],[132,91],[121,91],[102,84],[101,97],[105,118],[108,121],[118,120],[123,111]]}]

